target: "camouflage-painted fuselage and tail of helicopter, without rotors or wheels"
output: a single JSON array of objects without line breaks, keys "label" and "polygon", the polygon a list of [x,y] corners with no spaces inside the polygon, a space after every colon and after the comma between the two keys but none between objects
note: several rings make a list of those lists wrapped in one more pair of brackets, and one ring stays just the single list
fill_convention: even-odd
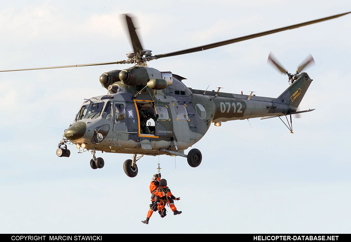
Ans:
[{"label": "camouflage-painted fuselage and tail of helicopter, without rotors or wheels", "polygon": [[[102,110],[105,110],[109,101],[123,105],[125,118],[114,122],[104,119],[100,113],[93,119],[74,120],[64,134],[69,141],[74,144],[86,143],[87,150],[161,155],[168,153],[161,152],[160,149],[176,151],[174,139],[178,152],[184,154],[185,149],[205,135],[212,122],[284,115],[296,111],[312,82],[307,73],[301,73],[278,98],[251,96],[248,100],[248,95],[218,93],[216,96],[216,92],[187,88],[181,82],[184,78],[170,72],[161,73],[143,66],[125,70],[130,76],[127,81],[120,81],[118,78],[120,70],[102,74],[104,83],[100,77],[100,82],[106,89],[110,85],[118,85],[116,93],[110,90],[107,94],[110,97],[105,95],[90,99],[90,105],[104,102]],[[157,90],[154,96],[155,111],[159,114],[159,120],[155,123],[155,135],[143,135],[140,134],[137,105],[143,104],[145,108],[151,106],[156,90],[147,88],[134,99],[133,95],[153,78],[167,78],[172,84]],[[86,104],[87,102],[83,103]],[[98,133],[102,140],[97,138]]]}]

